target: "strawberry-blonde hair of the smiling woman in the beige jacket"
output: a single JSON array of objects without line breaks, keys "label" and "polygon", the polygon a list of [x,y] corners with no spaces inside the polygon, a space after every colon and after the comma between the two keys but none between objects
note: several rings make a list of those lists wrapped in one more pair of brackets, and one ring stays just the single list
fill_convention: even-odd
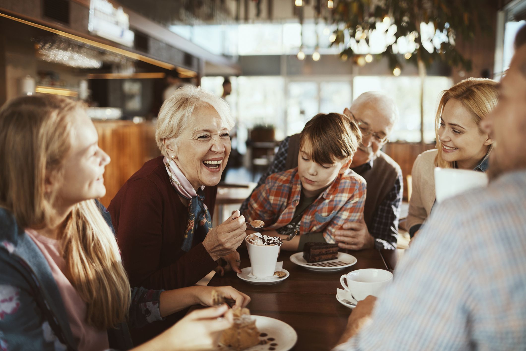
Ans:
[{"label": "strawberry-blonde hair of the smiling woman in the beige jacket", "polygon": [[[435,163],[441,168],[454,168],[454,162],[446,162],[442,158],[442,143],[438,137],[438,129],[440,128],[440,118],[444,106],[450,99],[456,99],[466,107],[473,117],[473,121],[479,126],[479,132],[484,133],[480,128],[482,120],[492,111],[499,102],[498,97],[498,83],[488,78],[468,78],[453,85],[448,90],[444,90],[441,94],[440,103],[438,105],[437,115],[434,120],[434,131],[437,138],[437,158]],[[488,157],[493,144],[488,146],[488,152],[485,157]]]}]

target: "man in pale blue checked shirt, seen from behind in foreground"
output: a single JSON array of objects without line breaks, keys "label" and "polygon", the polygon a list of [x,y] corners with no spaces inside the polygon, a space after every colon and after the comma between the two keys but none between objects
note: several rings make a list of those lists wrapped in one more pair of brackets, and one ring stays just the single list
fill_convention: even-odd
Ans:
[{"label": "man in pale blue checked shirt, seen from behind in foreground", "polygon": [[393,283],[377,303],[358,304],[335,350],[526,349],[526,26],[483,123],[497,141],[490,185],[433,211]]}]

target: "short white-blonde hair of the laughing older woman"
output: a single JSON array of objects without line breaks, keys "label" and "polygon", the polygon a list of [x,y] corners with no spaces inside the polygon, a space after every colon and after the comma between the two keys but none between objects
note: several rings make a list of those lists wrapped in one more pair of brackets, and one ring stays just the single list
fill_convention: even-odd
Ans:
[{"label": "short white-blonde hair of the laughing older woman", "polygon": [[159,110],[155,141],[161,154],[170,158],[164,139],[175,138],[177,141],[194,111],[202,107],[214,108],[229,130],[234,127],[234,118],[230,115],[230,106],[225,100],[200,87],[184,86],[166,99]]}]

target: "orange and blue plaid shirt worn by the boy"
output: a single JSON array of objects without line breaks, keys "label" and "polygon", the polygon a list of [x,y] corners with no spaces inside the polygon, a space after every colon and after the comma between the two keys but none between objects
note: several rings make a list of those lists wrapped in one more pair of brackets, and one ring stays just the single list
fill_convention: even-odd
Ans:
[{"label": "orange and blue plaid shirt worn by the boy", "polygon": [[[274,173],[252,193],[245,218],[247,222],[262,220],[266,229],[284,227],[294,216],[300,194],[298,167]],[[365,196],[365,179],[352,171],[338,175],[305,210],[299,234],[323,232],[327,243],[335,243],[335,232],[343,223],[363,218]]]}]

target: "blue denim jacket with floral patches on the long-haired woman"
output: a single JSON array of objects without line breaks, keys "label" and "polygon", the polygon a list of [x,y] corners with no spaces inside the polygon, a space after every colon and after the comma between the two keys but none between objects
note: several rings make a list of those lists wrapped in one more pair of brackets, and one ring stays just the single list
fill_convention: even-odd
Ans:
[{"label": "blue denim jacket with floral patches on the long-haired woman", "polygon": [[[112,228],[106,208],[97,202]],[[131,289],[129,319],[140,327],[162,319],[163,290]],[[133,347],[126,323],[108,329],[110,347]],[[76,350],[62,297],[46,258],[16,219],[0,208],[0,349]]]}]

